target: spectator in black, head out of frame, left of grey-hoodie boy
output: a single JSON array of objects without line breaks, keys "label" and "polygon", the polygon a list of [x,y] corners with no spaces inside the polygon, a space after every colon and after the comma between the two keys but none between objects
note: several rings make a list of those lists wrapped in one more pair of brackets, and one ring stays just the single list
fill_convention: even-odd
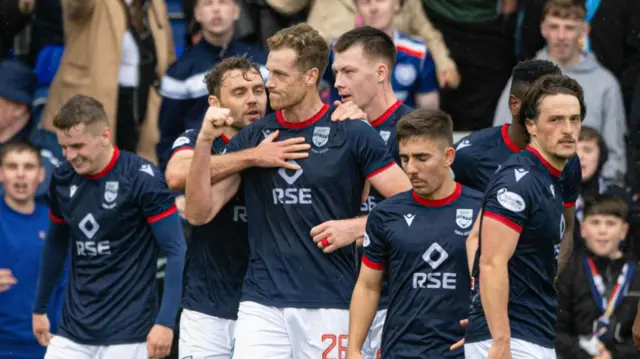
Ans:
[{"label": "spectator in black, head out of frame, left of grey-hoodie boy", "polygon": [[440,92],[440,107],[451,115],[456,131],[491,126],[500,91],[515,63],[516,1],[423,0],[462,77],[459,88]]}]

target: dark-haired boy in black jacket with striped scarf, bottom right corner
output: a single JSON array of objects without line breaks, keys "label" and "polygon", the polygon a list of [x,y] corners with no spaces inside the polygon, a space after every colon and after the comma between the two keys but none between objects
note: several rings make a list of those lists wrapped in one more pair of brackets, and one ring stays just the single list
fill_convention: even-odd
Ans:
[{"label": "dark-haired boy in black jacket with striped scarf, bottom right corner", "polygon": [[556,351],[563,359],[635,359],[631,339],[640,290],[640,269],[620,250],[627,236],[628,207],[610,195],[596,197],[581,223],[586,241],[558,279]]}]

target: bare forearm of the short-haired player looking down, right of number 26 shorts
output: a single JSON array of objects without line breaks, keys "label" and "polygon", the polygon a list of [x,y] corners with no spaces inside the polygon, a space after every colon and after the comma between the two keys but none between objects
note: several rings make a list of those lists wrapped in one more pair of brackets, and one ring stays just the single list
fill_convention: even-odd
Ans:
[{"label": "bare forearm of the short-haired player looking down, right of number 26 shorts", "polygon": [[378,310],[384,268],[363,264],[349,306],[349,344],[347,359],[362,358],[362,345]]}]

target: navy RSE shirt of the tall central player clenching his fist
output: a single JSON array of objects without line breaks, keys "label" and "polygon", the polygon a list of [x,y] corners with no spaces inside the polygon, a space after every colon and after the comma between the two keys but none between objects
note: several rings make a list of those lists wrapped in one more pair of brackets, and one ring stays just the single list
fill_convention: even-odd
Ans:
[{"label": "navy RSE shirt of the tall central player clenching his fist", "polygon": [[231,139],[229,152],[305,137],[309,157],[298,171],[249,168],[242,173],[249,221],[249,268],[242,300],[275,307],[347,309],[356,282],[355,245],[324,254],[310,231],[329,220],[357,217],[362,189],[393,165],[380,135],[365,121],[332,122],[328,106],[303,122],[280,111]]}]

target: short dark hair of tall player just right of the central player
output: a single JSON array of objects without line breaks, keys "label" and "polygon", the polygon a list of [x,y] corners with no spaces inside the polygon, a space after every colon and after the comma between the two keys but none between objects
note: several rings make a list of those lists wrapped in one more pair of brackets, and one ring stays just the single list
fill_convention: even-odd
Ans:
[{"label": "short dark hair of tall player just right of the central player", "polygon": [[396,45],[391,36],[371,26],[357,27],[342,34],[333,45],[333,51],[340,53],[357,45],[362,46],[367,56],[386,60],[391,74],[396,64]]}]

